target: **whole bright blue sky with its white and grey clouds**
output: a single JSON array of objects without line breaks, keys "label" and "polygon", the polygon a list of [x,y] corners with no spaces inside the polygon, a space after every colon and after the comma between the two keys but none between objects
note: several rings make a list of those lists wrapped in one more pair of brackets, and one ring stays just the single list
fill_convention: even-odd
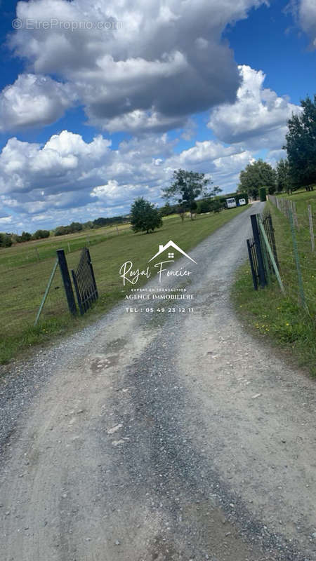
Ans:
[{"label": "whole bright blue sky with its white and grey clouds", "polygon": [[285,155],[316,92],[314,0],[117,4],[2,0],[0,231],[160,204],[180,167],[230,192]]}]

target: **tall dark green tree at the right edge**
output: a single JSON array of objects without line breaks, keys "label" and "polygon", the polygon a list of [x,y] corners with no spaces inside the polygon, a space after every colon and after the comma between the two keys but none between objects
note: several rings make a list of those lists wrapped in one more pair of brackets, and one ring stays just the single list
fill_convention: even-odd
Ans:
[{"label": "tall dark green tree at the right edge", "polygon": [[310,191],[316,183],[316,94],[314,101],[310,97],[301,100],[301,107],[301,114],[292,115],[287,123],[284,149],[294,189],[306,187]]}]

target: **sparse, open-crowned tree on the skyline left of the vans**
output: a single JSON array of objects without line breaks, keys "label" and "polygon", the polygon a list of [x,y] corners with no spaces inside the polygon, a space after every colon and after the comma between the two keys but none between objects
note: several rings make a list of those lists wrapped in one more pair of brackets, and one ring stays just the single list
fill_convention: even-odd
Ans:
[{"label": "sparse, open-crowned tree on the skyline left of the vans", "polygon": [[203,195],[204,197],[215,196],[218,194],[219,187],[214,187],[213,191],[207,191],[207,186],[211,184],[211,180],[206,177],[205,173],[197,173],[193,171],[175,170],[173,172],[173,183],[170,187],[163,189],[164,198],[176,199],[180,207],[190,210],[191,219],[193,212],[196,210],[195,199]]}]

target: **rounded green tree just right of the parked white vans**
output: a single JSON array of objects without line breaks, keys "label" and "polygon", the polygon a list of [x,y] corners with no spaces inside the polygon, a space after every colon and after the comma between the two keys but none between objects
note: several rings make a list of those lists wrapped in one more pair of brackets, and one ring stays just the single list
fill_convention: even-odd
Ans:
[{"label": "rounded green tree just right of the parked white vans", "polygon": [[245,191],[249,196],[256,199],[260,187],[266,187],[270,194],[276,189],[277,175],[270,163],[259,159],[249,163],[245,170],[239,175],[238,191]]}]

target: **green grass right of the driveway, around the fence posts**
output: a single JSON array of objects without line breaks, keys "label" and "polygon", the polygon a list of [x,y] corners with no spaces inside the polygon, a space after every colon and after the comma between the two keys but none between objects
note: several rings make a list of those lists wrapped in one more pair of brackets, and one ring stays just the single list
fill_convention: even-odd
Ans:
[{"label": "green grass right of the driveway, around the fence posts", "polygon": [[286,351],[290,360],[307,367],[316,376],[316,252],[312,253],[307,205],[312,205],[316,234],[316,191],[301,191],[289,197],[296,203],[298,254],[307,309],[300,303],[298,278],[288,219],[268,203],[275,227],[279,272],[286,290],[282,296],[276,280],[257,292],[253,288],[249,262],[238,271],[232,297],[244,325],[270,344]]}]

